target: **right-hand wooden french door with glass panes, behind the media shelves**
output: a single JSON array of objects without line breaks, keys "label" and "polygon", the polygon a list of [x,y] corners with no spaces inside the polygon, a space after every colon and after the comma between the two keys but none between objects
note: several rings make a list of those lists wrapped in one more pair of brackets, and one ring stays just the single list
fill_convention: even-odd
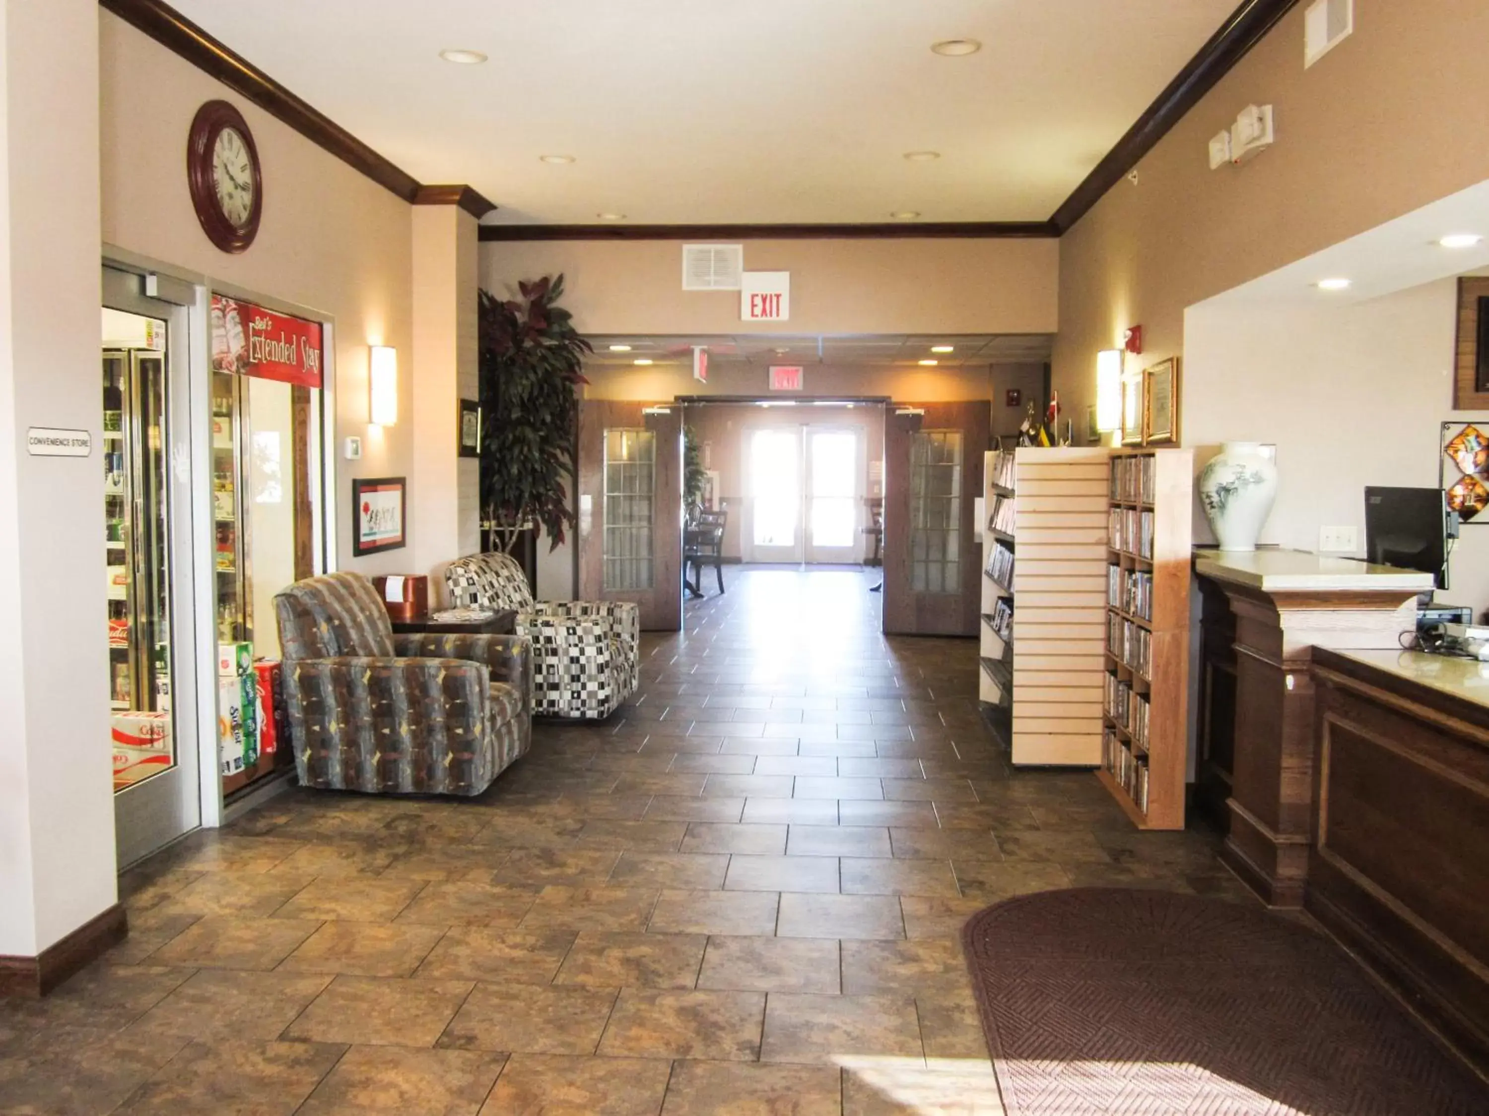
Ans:
[{"label": "right-hand wooden french door with glass panes, behind the media shelves", "polygon": [[884,631],[977,635],[990,403],[901,403],[884,414]]}]

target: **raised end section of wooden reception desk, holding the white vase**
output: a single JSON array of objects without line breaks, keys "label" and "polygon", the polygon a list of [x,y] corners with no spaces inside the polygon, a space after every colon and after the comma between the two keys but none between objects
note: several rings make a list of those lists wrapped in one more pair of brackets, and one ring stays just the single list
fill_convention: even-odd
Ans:
[{"label": "raised end section of wooden reception desk, holding the white vase", "polygon": [[1225,863],[1301,906],[1313,805],[1313,649],[1395,649],[1429,574],[1303,551],[1197,549],[1202,693],[1196,796]]}]

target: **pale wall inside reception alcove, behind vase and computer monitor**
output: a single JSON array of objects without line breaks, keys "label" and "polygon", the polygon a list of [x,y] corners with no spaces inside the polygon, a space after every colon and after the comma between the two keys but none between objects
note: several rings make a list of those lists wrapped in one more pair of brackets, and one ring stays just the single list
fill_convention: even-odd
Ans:
[{"label": "pale wall inside reception alcove, behind vase and computer monitor", "polygon": [[[1227,299],[1185,317],[1185,442],[1208,460],[1224,439],[1275,442],[1278,501],[1261,542],[1318,549],[1319,527],[1365,542],[1365,485],[1437,485],[1440,423],[1453,412],[1458,289],[1429,283],[1354,305]],[[1196,507],[1194,537],[1214,542]],[[1356,557],[1362,557],[1361,549]],[[1468,525],[1438,598],[1489,609],[1489,525]]]}]

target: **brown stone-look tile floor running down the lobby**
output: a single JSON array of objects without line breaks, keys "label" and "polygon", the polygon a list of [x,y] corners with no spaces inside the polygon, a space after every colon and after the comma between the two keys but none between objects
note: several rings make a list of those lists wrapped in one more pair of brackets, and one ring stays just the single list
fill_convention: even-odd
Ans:
[{"label": "brown stone-look tile floor running down the lobby", "polygon": [[873,571],[725,579],[481,799],[296,790],[128,872],[128,940],[0,1003],[0,1113],[998,1113],[966,915],[1243,897],[1011,772],[974,646],[883,638]]}]

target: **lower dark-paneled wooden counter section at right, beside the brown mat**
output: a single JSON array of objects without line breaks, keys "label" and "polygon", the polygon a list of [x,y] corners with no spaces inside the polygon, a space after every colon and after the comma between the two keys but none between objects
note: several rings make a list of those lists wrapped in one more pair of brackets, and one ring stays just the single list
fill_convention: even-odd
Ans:
[{"label": "lower dark-paneled wooden counter section at right, beside the brown mat", "polygon": [[1306,908],[1489,1067],[1489,664],[1315,650]]}]

